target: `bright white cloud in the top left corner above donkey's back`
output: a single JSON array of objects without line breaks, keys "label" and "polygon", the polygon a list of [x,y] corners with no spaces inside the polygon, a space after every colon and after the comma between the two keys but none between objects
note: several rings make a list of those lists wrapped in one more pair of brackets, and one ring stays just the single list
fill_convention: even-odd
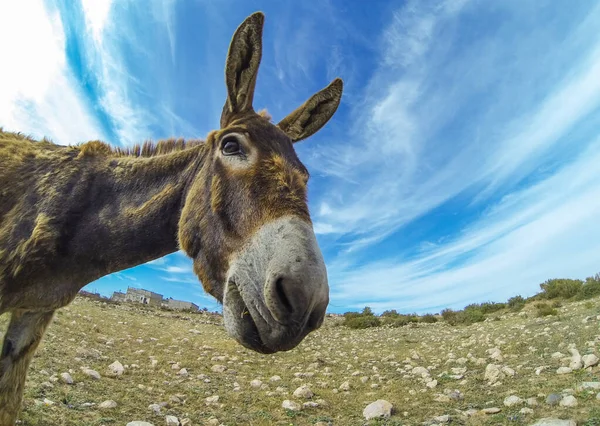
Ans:
[{"label": "bright white cloud in the top left corner above donkey's back", "polygon": [[62,144],[102,138],[67,67],[59,13],[23,0],[1,2],[0,16],[0,126]]}]

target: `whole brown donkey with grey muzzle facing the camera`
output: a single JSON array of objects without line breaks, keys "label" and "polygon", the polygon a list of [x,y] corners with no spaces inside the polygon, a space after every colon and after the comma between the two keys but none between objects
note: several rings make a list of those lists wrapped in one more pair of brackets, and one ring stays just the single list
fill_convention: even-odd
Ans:
[{"label": "whole brown donkey with grey muzzle facing the camera", "polygon": [[273,124],[252,106],[261,12],[235,31],[220,130],[205,141],[129,149],[58,146],[0,131],[0,426],[13,425],[31,358],[56,309],[104,275],[181,248],[225,328],[260,353],[296,347],[320,327],[327,271],[293,143],[333,116],[335,79]]}]

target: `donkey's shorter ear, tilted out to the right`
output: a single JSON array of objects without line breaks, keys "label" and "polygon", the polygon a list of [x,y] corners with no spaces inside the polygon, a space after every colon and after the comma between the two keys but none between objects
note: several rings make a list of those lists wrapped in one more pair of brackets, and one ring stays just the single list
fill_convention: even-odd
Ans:
[{"label": "donkey's shorter ear, tilted out to the right", "polygon": [[329,86],[315,93],[296,111],[277,124],[292,140],[298,142],[316,133],[329,121],[342,99],[344,83],[336,78]]}]

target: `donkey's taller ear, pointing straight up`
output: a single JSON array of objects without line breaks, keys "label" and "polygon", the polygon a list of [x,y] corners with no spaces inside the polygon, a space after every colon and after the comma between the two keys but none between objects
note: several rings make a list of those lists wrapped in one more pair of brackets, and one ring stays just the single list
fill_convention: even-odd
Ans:
[{"label": "donkey's taller ear, pointing straight up", "polygon": [[240,24],[231,39],[225,64],[227,101],[221,114],[222,128],[227,126],[233,114],[252,110],[264,22],[262,12],[253,13]]}]

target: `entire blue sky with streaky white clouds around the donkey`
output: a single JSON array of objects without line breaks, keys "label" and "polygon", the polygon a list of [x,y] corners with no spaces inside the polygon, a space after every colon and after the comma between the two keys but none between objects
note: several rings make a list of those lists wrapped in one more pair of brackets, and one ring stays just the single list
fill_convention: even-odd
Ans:
[{"label": "entire blue sky with streaky white clouds around the donkey", "polygon": [[[255,107],[339,76],[297,145],[330,312],[436,312],[600,271],[594,1],[1,2],[0,126],[61,144],[204,137],[230,37],[266,15]],[[102,278],[219,309],[182,253]]]}]

